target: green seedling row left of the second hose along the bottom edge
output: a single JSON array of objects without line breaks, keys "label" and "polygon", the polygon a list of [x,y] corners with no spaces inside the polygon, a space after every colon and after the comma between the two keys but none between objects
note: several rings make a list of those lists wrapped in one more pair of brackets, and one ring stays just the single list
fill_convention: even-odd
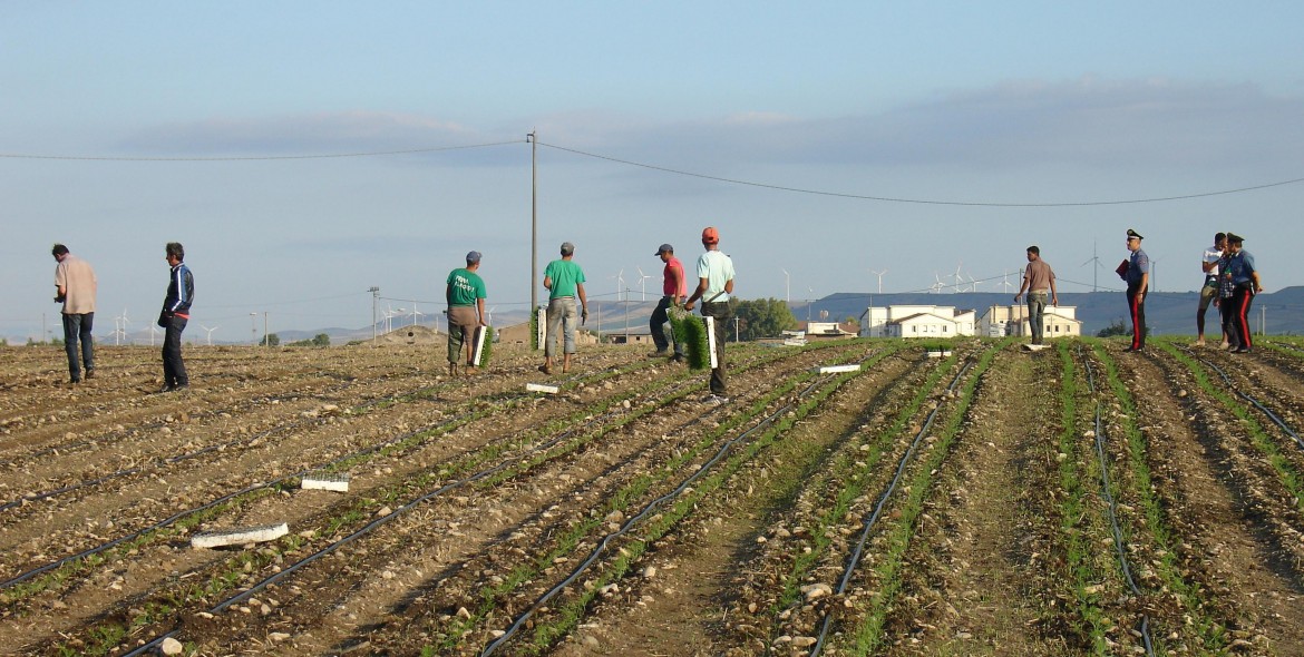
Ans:
[{"label": "green seedling row left of the second hose along the bottom edge", "polygon": [[[829,345],[832,347],[832,345]],[[858,351],[862,347],[854,349],[840,348],[836,352],[825,356],[828,358],[842,358],[852,351]],[[870,364],[878,362],[891,352],[882,352],[879,355],[870,357]],[[674,477],[681,473],[689,464],[702,459],[705,454],[720,443],[720,441],[728,438],[730,434],[742,430],[750,422],[752,422],[758,416],[767,412],[767,409],[773,408],[776,404],[781,404],[785,398],[794,394],[797,388],[807,385],[812,381],[816,374],[808,370],[801,370],[786,379],[775,382],[772,387],[767,387],[765,392],[750,402],[745,411],[739,413],[733,413],[725,416],[719,424],[713,424],[707,431],[704,431],[696,442],[690,443],[682,448],[675,448],[675,451],[659,465],[656,469],[639,472],[630,478],[621,488],[615,489],[610,495],[605,498],[600,507],[591,508],[585,518],[578,519],[578,521],[567,525],[561,533],[549,541],[545,549],[535,553],[533,557],[527,559],[524,563],[516,564],[507,576],[497,583],[481,583],[479,585],[477,593],[473,597],[479,601],[473,610],[469,610],[469,615],[463,617],[439,617],[439,618],[425,618],[425,627],[421,628],[421,634],[429,634],[438,637],[438,640],[429,645],[426,652],[433,652],[441,654],[450,650],[466,652],[466,639],[473,635],[477,630],[482,628],[492,618],[499,614],[503,609],[511,609],[511,602],[509,598],[520,597],[524,592],[522,591],[526,585],[533,585],[535,589],[542,587],[546,572],[553,570],[553,566],[562,559],[574,559],[576,550],[583,549],[589,542],[596,541],[599,531],[606,524],[606,519],[610,516],[631,518],[636,515],[636,510],[647,503],[647,499],[653,494],[656,489],[673,488]],[[673,402],[673,400],[668,400]],[[652,416],[657,409],[649,408],[645,415]],[[630,417],[630,421],[636,420]],[[627,424],[627,422],[622,422]],[[602,425],[596,429],[597,433],[610,433],[619,429],[618,425]],[[621,548],[621,554],[626,554],[629,546]],[[585,587],[585,591],[591,592],[591,587]],[[535,620],[535,635],[532,644],[548,645],[557,637],[565,635],[572,622],[575,620],[574,614],[576,610],[583,610],[588,598],[584,600],[579,606],[571,606],[570,613],[562,615],[561,620]],[[420,622],[420,620],[419,620]],[[553,630],[548,630],[552,627]]]}]

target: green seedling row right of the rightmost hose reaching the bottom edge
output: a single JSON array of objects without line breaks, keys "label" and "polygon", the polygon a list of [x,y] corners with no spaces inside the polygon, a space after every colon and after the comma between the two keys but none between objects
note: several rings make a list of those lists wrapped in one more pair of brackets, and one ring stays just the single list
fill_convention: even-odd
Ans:
[{"label": "green seedling row right of the rightmost hose reaching the bottom edge", "polygon": [[1157,640],[1155,649],[1161,653],[1175,649],[1176,647],[1167,644],[1180,641],[1183,631],[1189,630],[1194,644],[1185,645],[1184,649],[1224,652],[1231,643],[1226,624],[1215,617],[1214,606],[1206,604],[1200,583],[1188,580],[1181,571],[1179,549],[1183,541],[1166,518],[1163,499],[1150,471],[1150,441],[1140,424],[1145,413],[1138,408],[1108,349],[1093,340],[1091,352],[1103,368],[1104,381],[1101,392],[1108,399],[1102,403],[1118,404],[1118,412],[1111,415],[1107,426],[1110,435],[1120,442],[1123,459],[1116,461],[1114,476],[1110,478],[1116,485],[1114,498],[1129,499],[1131,503],[1125,508],[1133,510],[1134,514],[1131,525],[1120,523],[1125,545],[1149,555],[1148,568],[1144,572],[1148,575],[1144,579],[1148,580],[1149,601],[1144,604],[1151,609],[1170,610],[1164,614],[1166,620],[1176,623],[1180,618],[1187,626],[1162,627],[1161,630],[1168,634]]}]

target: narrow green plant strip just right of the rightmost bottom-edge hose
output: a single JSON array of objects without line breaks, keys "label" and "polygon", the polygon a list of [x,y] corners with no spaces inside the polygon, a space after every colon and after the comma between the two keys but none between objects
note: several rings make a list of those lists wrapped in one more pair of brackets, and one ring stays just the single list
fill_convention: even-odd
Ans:
[{"label": "narrow green plant strip just right of the rightmost bottom-edge hose", "polygon": [[[1155,340],[1155,343],[1163,348],[1163,344],[1159,340]],[[1176,536],[1174,536],[1172,529],[1168,528],[1168,523],[1164,518],[1163,503],[1158,495],[1155,495],[1155,486],[1150,476],[1150,465],[1146,458],[1149,452],[1149,442],[1136,424],[1137,405],[1132,398],[1132,392],[1128,391],[1123,379],[1119,378],[1118,365],[1114,362],[1114,358],[1110,357],[1104,347],[1097,343],[1094,345],[1094,353],[1104,365],[1104,373],[1110,390],[1114,392],[1114,396],[1120,404],[1118,417],[1125,438],[1128,461],[1132,465],[1129,472],[1132,495],[1134,495],[1138,501],[1146,531],[1150,533],[1150,538],[1154,541],[1155,548],[1158,548],[1154,551],[1157,558],[1151,561],[1151,564],[1155,568],[1155,575],[1163,583],[1163,588],[1172,593],[1178,602],[1187,610],[1187,615],[1191,618],[1191,624],[1194,628],[1196,637],[1204,644],[1202,648],[1211,652],[1224,652],[1230,645],[1227,628],[1223,627],[1217,619],[1210,618],[1210,606],[1204,604],[1200,585],[1197,583],[1188,583],[1181,576],[1181,568],[1178,563],[1176,553],[1178,542],[1180,541]],[[1118,477],[1114,477],[1114,480],[1118,481]],[[1115,499],[1118,499],[1118,495]]]}]

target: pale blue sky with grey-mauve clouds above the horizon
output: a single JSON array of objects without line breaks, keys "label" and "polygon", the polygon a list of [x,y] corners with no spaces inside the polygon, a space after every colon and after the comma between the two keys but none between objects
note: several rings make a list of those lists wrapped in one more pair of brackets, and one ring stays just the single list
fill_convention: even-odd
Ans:
[{"label": "pale blue sky with grey-mauve clouds above the horizon", "polygon": [[0,16],[10,343],[59,334],[55,242],[96,270],[102,340],[119,317],[151,323],[168,241],[194,272],[188,338],[223,342],[263,318],[369,326],[372,287],[381,310],[429,318],[468,250],[490,310],[522,313],[535,241],[540,282],[572,241],[592,299],[651,299],[653,252],[691,270],[705,226],[742,299],[952,292],[957,271],[1013,295],[1033,244],[1060,292],[1121,289],[1128,228],[1157,291],[1197,289],[1218,231],[1245,237],[1269,292],[1304,284],[1301,3],[0,0]]}]

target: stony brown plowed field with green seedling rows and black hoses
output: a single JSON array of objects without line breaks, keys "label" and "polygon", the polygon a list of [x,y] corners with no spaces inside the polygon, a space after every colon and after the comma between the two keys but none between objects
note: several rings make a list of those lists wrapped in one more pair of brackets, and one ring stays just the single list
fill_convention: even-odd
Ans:
[{"label": "stony brown plowed field with green seedling rows and black hoses", "polygon": [[0,652],[1304,654],[1299,344],[4,348]]}]

